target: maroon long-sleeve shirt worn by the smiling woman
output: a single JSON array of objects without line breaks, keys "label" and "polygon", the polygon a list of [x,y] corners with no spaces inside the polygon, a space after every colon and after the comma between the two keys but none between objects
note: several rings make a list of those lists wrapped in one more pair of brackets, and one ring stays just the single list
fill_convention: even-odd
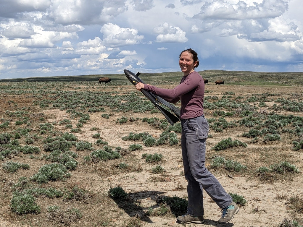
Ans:
[{"label": "maroon long-sleeve shirt worn by the smiling woman", "polygon": [[170,103],[181,100],[180,119],[199,117],[203,114],[204,81],[196,71],[182,77],[180,84],[173,89],[145,84],[144,90],[150,91]]}]

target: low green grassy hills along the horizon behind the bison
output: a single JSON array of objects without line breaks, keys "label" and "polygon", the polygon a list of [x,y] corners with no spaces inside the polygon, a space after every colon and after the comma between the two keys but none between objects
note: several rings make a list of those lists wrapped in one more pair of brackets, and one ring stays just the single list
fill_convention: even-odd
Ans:
[{"label": "low green grassy hills along the horizon behind the bison", "polygon": [[[137,73],[137,71],[133,71]],[[303,85],[303,72],[250,72],[250,71],[222,71],[205,70],[199,71],[203,78],[209,82],[223,80],[225,84],[233,85]],[[182,72],[165,73],[142,73],[140,77],[146,83],[153,81],[179,82]],[[112,81],[127,81],[125,74],[93,74],[82,76],[59,76],[59,77],[30,77],[20,79],[3,79],[0,82],[26,81],[98,81],[100,77],[110,77]]]}]

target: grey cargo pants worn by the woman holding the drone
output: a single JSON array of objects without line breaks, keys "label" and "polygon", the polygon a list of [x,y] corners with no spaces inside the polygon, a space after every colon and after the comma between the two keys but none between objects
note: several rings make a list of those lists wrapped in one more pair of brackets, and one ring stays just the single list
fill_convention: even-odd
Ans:
[{"label": "grey cargo pants worn by the woman holding the drone", "polygon": [[205,168],[206,138],[209,130],[205,116],[181,119],[181,126],[184,176],[188,182],[187,214],[204,215],[202,188],[221,209],[229,206],[232,202],[231,196],[225,192],[215,176]]}]

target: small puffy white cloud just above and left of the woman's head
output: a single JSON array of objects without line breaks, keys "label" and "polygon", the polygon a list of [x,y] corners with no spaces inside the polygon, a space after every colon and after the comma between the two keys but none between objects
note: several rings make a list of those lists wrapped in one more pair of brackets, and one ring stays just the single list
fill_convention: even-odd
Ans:
[{"label": "small puffy white cloud just above and left of the woman's head", "polygon": [[167,22],[154,28],[154,33],[160,34],[156,38],[156,42],[164,43],[185,43],[188,38],[185,37],[185,31],[179,27],[170,26]]}]

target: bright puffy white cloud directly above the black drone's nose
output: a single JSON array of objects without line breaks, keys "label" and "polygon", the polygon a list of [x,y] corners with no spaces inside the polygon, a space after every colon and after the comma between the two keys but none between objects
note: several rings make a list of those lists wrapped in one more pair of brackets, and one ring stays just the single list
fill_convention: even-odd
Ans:
[{"label": "bright puffy white cloud directly above the black drone's nose", "polygon": [[103,33],[103,43],[110,47],[134,45],[144,39],[143,35],[138,35],[136,29],[121,28],[112,23],[103,25],[101,33]]}]

